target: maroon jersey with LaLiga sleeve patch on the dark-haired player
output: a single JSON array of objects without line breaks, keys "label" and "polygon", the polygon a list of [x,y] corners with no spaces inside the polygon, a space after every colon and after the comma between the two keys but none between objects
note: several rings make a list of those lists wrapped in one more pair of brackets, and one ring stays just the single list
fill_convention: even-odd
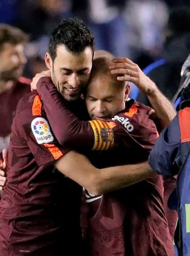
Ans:
[{"label": "maroon jersey with LaLiga sleeve patch on the dark-haired player", "polygon": [[23,97],[11,129],[7,184],[0,201],[1,255],[81,255],[82,188],[52,164],[67,151],[55,140],[39,96]]}]

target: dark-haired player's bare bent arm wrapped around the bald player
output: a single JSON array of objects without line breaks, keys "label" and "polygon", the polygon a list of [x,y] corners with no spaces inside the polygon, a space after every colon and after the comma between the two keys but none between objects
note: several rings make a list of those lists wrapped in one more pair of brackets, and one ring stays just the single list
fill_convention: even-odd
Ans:
[{"label": "dark-haired player's bare bent arm wrapped around the bald player", "polygon": [[98,169],[75,151],[69,151],[55,162],[55,166],[94,195],[121,189],[155,175],[147,162]]}]

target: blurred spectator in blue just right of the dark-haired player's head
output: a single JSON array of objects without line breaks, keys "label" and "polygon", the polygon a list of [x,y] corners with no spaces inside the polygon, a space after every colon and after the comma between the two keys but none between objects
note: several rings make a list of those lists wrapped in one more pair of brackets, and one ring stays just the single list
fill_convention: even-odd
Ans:
[{"label": "blurred spectator in blue just right of the dark-haired player's head", "polygon": [[97,50],[129,57],[124,6],[125,0],[73,0],[72,12],[92,29]]}]

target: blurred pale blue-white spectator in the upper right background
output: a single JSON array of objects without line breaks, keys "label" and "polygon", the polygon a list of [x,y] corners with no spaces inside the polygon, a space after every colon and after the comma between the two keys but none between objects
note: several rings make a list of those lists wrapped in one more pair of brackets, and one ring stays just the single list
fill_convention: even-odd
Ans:
[{"label": "blurred pale blue-white spectator in the upper right background", "polygon": [[160,55],[168,6],[162,0],[128,0],[124,14],[131,58],[143,69]]}]

